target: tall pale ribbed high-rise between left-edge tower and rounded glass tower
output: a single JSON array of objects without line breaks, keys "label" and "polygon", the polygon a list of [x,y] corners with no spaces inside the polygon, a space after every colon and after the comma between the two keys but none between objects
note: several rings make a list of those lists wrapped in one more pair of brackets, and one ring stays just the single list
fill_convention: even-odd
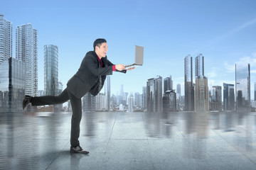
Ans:
[{"label": "tall pale ribbed high-rise between left-edge tower and rounded glass tower", "polygon": [[38,33],[32,23],[16,28],[16,58],[25,63],[25,93],[38,94]]}]

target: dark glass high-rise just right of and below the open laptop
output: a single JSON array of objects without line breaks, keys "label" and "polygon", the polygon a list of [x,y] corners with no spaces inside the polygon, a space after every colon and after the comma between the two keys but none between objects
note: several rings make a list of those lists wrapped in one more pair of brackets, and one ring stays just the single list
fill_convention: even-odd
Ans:
[{"label": "dark glass high-rise just right of and below the open laptop", "polygon": [[148,79],[146,82],[146,108],[148,112],[163,111],[162,77]]}]

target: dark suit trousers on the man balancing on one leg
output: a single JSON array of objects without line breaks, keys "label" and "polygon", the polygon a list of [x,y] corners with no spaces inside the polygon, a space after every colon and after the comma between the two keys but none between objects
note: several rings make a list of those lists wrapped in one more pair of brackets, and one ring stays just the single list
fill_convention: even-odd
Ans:
[{"label": "dark suit trousers on the man balancing on one leg", "polygon": [[72,119],[71,119],[71,133],[70,133],[70,145],[76,147],[80,145],[79,135],[80,135],[80,121],[82,118],[82,102],[81,98],[76,98],[67,89],[65,89],[59,96],[40,96],[32,97],[32,106],[43,106],[60,104],[70,100],[72,107]]}]

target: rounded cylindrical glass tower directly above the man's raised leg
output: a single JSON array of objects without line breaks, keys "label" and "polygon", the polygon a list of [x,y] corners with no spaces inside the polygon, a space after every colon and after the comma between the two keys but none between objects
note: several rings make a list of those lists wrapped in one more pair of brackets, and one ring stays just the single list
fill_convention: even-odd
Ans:
[{"label": "rounded cylindrical glass tower directly above the man's raised leg", "polygon": [[44,45],[44,91],[46,96],[58,95],[58,47]]}]

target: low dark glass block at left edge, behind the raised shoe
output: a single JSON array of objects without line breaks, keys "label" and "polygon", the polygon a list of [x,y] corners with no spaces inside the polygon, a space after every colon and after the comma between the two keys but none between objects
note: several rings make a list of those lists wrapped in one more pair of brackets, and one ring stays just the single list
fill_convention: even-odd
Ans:
[{"label": "low dark glass block at left edge, behind the raised shoe", "polygon": [[0,63],[0,112],[22,111],[24,71],[24,63],[13,57]]}]

